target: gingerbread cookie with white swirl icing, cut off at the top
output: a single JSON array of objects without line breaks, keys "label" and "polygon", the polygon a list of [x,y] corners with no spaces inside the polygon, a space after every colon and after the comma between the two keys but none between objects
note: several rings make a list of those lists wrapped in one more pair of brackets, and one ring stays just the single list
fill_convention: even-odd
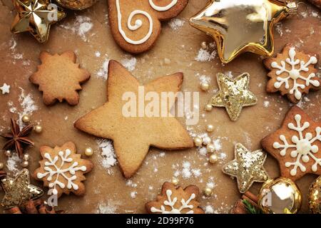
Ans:
[{"label": "gingerbread cookie with white swirl icing, cut off at the top", "polygon": [[108,0],[111,33],[130,53],[148,51],[161,33],[161,21],[178,16],[188,0]]}]

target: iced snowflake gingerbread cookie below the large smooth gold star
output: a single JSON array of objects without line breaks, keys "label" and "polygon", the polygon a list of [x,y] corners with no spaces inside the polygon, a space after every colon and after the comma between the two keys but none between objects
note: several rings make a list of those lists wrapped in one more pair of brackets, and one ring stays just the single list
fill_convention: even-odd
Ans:
[{"label": "iced snowflake gingerbread cookie below the large smooth gold star", "polygon": [[266,58],[265,67],[270,70],[266,90],[269,93],[280,91],[292,103],[298,103],[304,93],[320,89],[317,77],[317,56],[310,56],[295,47],[287,45],[276,58]]}]

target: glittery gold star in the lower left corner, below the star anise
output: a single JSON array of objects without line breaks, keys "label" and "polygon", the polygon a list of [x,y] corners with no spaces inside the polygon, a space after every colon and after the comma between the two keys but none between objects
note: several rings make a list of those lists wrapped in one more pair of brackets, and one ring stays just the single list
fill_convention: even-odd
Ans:
[{"label": "glittery gold star in the lower left corner, below the star anise", "polygon": [[5,209],[21,206],[24,202],[36,199],[44,194],[40,187],[30,185],[29,171],[21,170],[15,178],[5,177],[1,180],[5,195],[1,205]]}]

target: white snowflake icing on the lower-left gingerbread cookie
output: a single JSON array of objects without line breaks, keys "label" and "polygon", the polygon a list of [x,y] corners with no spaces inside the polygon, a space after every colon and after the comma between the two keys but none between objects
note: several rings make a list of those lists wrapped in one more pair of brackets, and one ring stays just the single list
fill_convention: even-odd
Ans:
[{"label": "white snowflake icing on the lower-left gingerbread cookie", "polygon": [[[38,172],[37,177],[41,179],[48,175],[47,180],[49,182],[49,188],[52,189],[52,192],[54,195],[58,194],[58,191],[56,190],[56,185],[58,185],[62,189],[66,187],[65,184],[63,184],[63,182],[58,181],[58,178],[60,176],[62,176],[64,179],[68,181],[67,182],[68,190],[71,190],[71,188],[73,188],[73,190],[78,190],[78,185],[73,183],[73,180],[77,179],[77,176],[75,175],[75,173],[78,170],[81,170],[83,172],[86,171],[87,169],[86,166],[78,167],[78,162],[73,162],[73,159],[69,157],[69,155],[71,155],[71,150],[69,149],[67,149],[65,153],[63,151],[59,151],[58,155],[59,156],[55,156],[54,159],[51,159],[48,152],[44,154],[44,157],[48,160],[48,162],[44,163],[45,165],[44,170],[46,172],[44,173]],[[56,165],[59,159],[61,160],[60,165]],[[73,163],[70,166],[66,167],[66,163],[71,163],[71,162]],[[68,177],[66,173],[69,173],[71,177]],[[56,178],[53,182],[52,180],[54,175],[56,175]]]}]

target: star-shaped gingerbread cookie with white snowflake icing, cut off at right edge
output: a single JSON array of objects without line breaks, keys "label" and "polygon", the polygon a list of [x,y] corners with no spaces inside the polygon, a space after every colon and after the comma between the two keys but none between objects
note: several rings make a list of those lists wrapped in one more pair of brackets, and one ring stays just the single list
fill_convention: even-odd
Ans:
[{"label": "star-shaped gingerbread cookie with white snowflake icing, cut off at right edge", "polygon": [[278,160],[282,177],[295,181],[307,173],[321,175],[321,122],[313,121],[297,106],[261,145]]}]

